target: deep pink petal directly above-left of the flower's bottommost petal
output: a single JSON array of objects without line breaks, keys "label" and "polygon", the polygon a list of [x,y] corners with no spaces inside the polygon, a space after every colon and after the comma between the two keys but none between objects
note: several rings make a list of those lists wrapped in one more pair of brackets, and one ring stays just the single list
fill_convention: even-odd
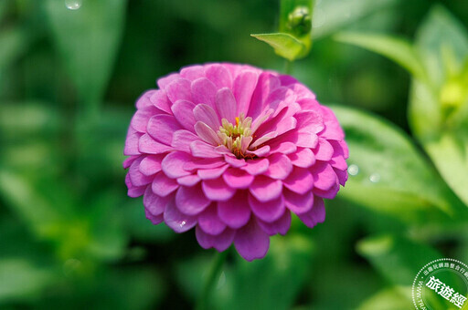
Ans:
[{"label": "deep pink petal directly above-left of the flower's bottommost petal", "polygon": [[250,206],[247,191],[237,191],[227,202],[218,202],[218,216],[229,227],[237,229],[250,219]]}]

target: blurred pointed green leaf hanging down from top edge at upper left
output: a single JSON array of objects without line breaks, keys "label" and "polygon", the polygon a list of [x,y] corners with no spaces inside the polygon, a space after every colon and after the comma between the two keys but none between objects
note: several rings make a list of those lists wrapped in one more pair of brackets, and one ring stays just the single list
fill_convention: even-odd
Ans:
[{"label": "blurred pointed green leaf hanging down from top edge at upper left", "polygon": [[85,1],[80,9],[69,10],[63,1],[45,1],[54,43],[80,101],[87,105],[101,101],[111,77],[126,3],[126,0]]}]

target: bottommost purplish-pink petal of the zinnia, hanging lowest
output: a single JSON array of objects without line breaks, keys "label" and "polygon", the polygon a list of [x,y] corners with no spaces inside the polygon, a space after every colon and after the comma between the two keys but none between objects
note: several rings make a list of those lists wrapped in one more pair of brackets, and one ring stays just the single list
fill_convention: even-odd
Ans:
[{"label": "bottommost purplish-pink petal of the zinnia, hanging lowest", "polygon": [[251,262],[266,255],[270,247],[270,237],[261,230],[255,220],[251,220],[236,232],[234,245],[240,256]]}]

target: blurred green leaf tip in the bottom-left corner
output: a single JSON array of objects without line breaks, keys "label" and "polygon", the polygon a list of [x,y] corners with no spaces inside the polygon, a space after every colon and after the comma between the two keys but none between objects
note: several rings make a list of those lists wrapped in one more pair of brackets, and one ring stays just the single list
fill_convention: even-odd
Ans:
[{"label": "blurred green leaf tip in the bottom-left corner", "polygon": [[0,305],[38,297],[54,280],[54,273],[23,258],[0,260]]}]

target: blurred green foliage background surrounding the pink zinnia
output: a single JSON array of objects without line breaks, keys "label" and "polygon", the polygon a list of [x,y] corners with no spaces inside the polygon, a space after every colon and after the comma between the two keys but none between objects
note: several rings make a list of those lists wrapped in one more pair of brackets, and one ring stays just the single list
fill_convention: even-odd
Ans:
[{"label": "blurred green foliage background surrounding the pink zinnia", "polygon": [[[190,64],[281,71],[283,60],[250,37],[276,29],[279,3],[80,3],[0,0],[0,308],[192,308],[214,250],[193,232],[153,226],[142,200],[126,196],[133,104]],[[468,263],[468,209],[410,133],[410,75],[334,39],[353,30],[412,41],[437,12],[466,35],[466,1],[316,1],[312,53],[293,75],[340,105],[355,175],[323,224],[294,220],[261,261],[229,253],[210,307],[411,309],[424,264]]]}]

